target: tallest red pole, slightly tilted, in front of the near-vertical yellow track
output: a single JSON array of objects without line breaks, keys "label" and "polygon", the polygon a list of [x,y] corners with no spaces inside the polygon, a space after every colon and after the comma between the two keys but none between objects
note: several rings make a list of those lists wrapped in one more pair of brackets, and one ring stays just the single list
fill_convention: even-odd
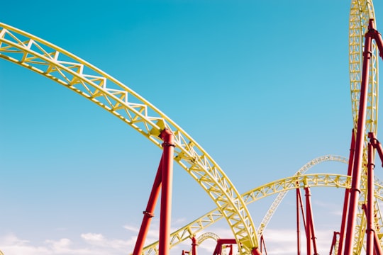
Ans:
[{"label": "tallest red pole, slightly tilted, in front of the near-vertical yellow track", "polygon": [[[370,27],[370,26],[369,26]],[[371,60],[371,43],[372,38],[370,33],[365,35],[365,50],[363,52],[363,67],[362,67],[362,81],[360,84],[360,103],[359,113],[357,119],[357,135],[355,140],[355,161],[353,165],[353,179],[350,189],[350,203],[348,210],[347,228],[345,232],[345,254],[353,254],[353,239],[355,232],[355,222],[357,214],[358,198],[360,194],[360,175],[362,171],[362,157],[363,157],[363,142],[365,137],[365,120],[367,108],[367,90],[368,90],[368,77],[369,67]]]}]

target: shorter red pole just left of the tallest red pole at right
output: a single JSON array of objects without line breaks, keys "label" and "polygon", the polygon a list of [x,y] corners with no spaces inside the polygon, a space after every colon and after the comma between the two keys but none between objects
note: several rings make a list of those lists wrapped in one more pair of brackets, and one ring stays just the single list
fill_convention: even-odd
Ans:
[{"label": "shorter red pole just left of the tallest red pole at right", "polygon": [[[355,130],[353,129],[351,134],[350,155],[348,156],[348,170],[347,170],[348,176],[351,176],[353,174],[354,152],[355,152]],[[345,200],[343,201],[342,222],[340,225],[338,255],[341,255],[343,253],[343,244],[345,241],[345,226],[346,226],[346,219],[348,217],[349,200],[350,200],[350,188],[346,188]]]}]

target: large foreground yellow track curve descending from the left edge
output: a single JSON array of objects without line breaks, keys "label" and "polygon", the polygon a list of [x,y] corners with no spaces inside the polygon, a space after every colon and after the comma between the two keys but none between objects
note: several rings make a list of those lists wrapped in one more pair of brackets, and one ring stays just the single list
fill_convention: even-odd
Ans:
[{"label": "large foreground yellow track curve descending from the left edge", "polygon": [[50,42],[0,23],[0,57],[66,86],[116,115],[161,147],[160,132],[174,134],[174,160],[209,194],[225,215],[240,253],[258,246],[254,223],[243,198],[223,170],[184,130],[142,96],[88,62]]}]

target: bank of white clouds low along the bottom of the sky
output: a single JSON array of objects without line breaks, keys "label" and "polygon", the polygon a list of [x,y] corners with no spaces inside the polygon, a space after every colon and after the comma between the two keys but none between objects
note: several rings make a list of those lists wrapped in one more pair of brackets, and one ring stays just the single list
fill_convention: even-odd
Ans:
[{"label": "bank of white clouds low along the bottom of the sky", "polygon": [[[124,226],[126,229],[134,227]],[[155,236],[158,230],[155,229]],[[231,229],[225,227],[210,227],[208,232],[213,232],[220,238],[231,238]],[[197,234],[197,237],[202,233]],[[330,249],[333,232],[316,230],[317,246],[320,254]],[[148,234],[145,245],[157,241],[152,232]],[[137,239],[131,236],[128,239],[108,238],[101,233],[87,232],[79,234],[78,239],[50,239],[42,244],[35,244],[27,239],[21,239],[16,234],[7,234],[0,237],[0,249],[5,255],[127,255],[130,254]],[[74,237],[75,238],[75,237]],[[268,254],[296,254],[296,229],[266,229],[265,242]],[[301,233],[302,251],[306,244],[304,233]],[[212,239],[199,244],[200,255],[209,255],[216,246]],[[174,246],[171,254],[181,254],[182,249],[191,249],[191,240]],[[234,253],[236,250],[234,250]]]}]

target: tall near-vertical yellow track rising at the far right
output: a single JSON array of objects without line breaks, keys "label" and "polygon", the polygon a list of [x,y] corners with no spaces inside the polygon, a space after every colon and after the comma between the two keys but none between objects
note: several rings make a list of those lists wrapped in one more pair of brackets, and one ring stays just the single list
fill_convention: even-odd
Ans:
[{"label": "tall near-vertical yellow track rising at the far right", "polygon": [[[352,0],[350,6],[349,20],[349,64],[350,64],[350,89],[351,89],[351,105],[353,111],[353,123],[355,130],[357,129],[357,118],[360,101],[360,84],[362,79],[362,62],[363,49],[365,42],[365,33],[367,32],[368,22],[374,19],[377,25],[374,6],[372,0]],[[365,123],[365,148],[363,151],[362,176],[360,181],[360,197],[358,200],[357,222],[355,225],[353,254],[360,254],[365,239],[366,218],[362,211],[362,205],[367,199],[367,134],[374,132],[377,134],[378,119],[378,49],[376,43],[372,42],[372,57],[370,62],[370,79],[368,81],[367,95],[367,113]],[[374,208],[377,212],[375,218],[376,229],[382,234],[382,214],[379,209],[377,200],[374,201]]]}]

